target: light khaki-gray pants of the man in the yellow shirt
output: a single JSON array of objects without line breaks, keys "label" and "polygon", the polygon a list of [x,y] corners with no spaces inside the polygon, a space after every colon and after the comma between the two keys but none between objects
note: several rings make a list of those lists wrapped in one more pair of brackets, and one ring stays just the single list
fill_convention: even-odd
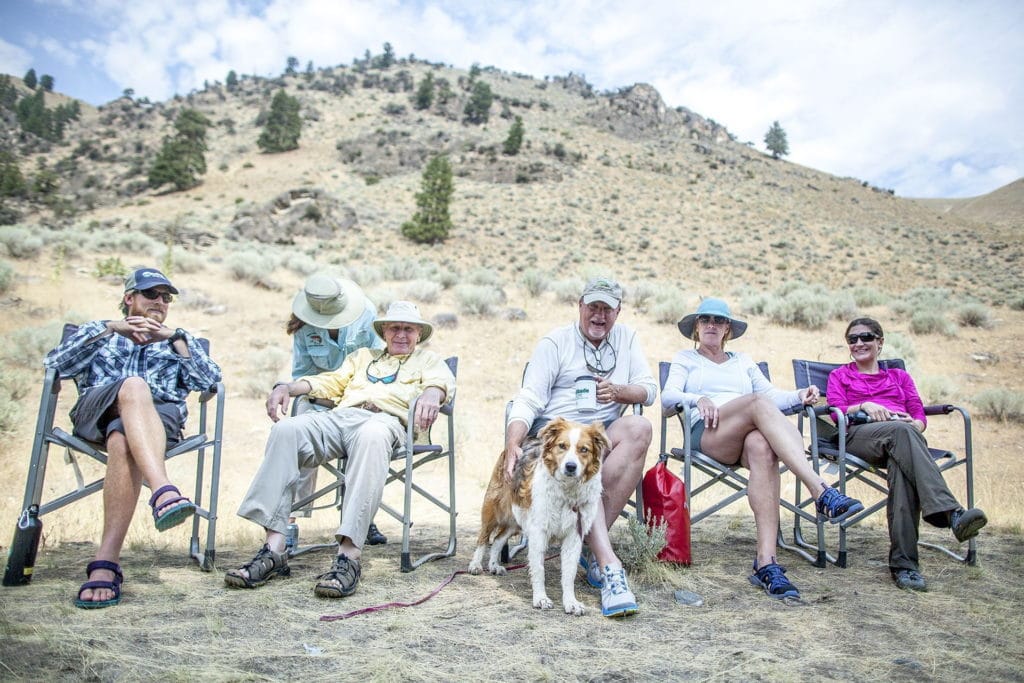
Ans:
[{"label": "light khaki-gray pants of the man in the yellow shirt", "polygon": [[335,537],[339,543],[348,537],[361,548],[380,507],[388,463],[396,450],[404,449],[404,440],[401,423],[386,413],[345,408],[286,418],[270,429],[263,462],[239,515],[285,533],[301,470],[344,455],[345,501]]}]

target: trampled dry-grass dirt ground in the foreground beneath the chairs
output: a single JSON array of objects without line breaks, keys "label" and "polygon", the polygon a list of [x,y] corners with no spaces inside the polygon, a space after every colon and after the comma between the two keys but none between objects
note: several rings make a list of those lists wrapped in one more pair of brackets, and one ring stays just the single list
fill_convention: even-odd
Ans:
[{"label": "trampled dry-grass dirt ground in the foreground beneath the chairs", "polygon": [[[472,515],[467,515],[471,518]],[[467,519],[467,522],[469,519]],[[617,529],[616,525],[616,529]],[[886,570],[884,529],[853,533],[851,566],[819,569],[783,554],[801,601],[768,599],[746,582],[753,521],[719,515],[694,528],[694,564],[668,581],[634,578],[635,617],[590,608],[582,617],[530,606],[525,569],[504,578],[460,574],[415,607],[337,615],[426,596],[466,567],[475,528],[451,559],[412,573],[392,543],[365,555],[358,591],[312,593],[327,552],[294,559],[292,578],[255,591],[224,586],[168,542],[124,557],[125,597],[115,609],[72,606],[91,544],[41,553],[27,587],[0,591],[0,678],[6,680],[978,680],[1024,678],[1020,613],[1024,540],[986,532],[976,567],[925,551],[930,592],[899,591]],[[932,538],[943,538],[938,532]],[[944,540],[944,539],[943,539]],[[424,535],[421,543],[437,542]],[[225,548],[220,567],[249,549]],[[519,558],[516,558],[519,559]],[[557,560],[548,586],[557,591]],[[674,589],[703,605],[677,604]]]}]

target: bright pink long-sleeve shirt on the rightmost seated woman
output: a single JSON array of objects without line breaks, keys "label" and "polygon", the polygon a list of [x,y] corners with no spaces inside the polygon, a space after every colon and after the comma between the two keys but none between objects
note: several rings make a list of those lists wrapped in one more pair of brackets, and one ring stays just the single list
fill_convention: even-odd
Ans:
[{"label": "bright pink long-sleeve shirt on the rightmost seated woman", "polygon": [[880,368],[876,375],[859,372],[856,362],[837,368],[828,375],[825,397],[829,405],[835,405],[844,413],[851,405],[869,400],[890,411],[906,413],[914,420],[928,424],[918,387],[906,371],[896,368]]}]

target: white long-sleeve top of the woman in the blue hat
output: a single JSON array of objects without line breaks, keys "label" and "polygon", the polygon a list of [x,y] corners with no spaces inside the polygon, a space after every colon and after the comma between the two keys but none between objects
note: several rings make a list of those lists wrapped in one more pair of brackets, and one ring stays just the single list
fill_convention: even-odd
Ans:
[{"label": "white long-sleeve top of the woman in the blue hat", "polygon": [[[666,410],[679,404],[693,408],[701,397],[707,397],[721,408],[749,393],[766,394],[780,411],[801,402],[799,391],[776,388],[751,356],[734,351],[729,351],[728,355],[728,360],[718,364],[700,355],[696,349],[676,353],[662,391],[662,407]],[[691,426],[699,419],[697,411],[690,412]]]}]

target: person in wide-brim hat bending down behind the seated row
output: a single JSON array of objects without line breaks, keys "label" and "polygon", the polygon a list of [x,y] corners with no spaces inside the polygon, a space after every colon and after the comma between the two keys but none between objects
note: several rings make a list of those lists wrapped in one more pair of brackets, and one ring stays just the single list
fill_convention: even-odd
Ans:
[{"label": "person in wide-brim hat bending down behind the seated row", "polygon": [[[292,335],[292,381],[337,370],[349,353],[360,348],[384,348],[384,340],[374,332],[376,314],[377,307],[351,280],[311,275],[292,298],[292,315],[285,327]],[[326,410],[308,396],[295,399],[296,415]],[[315,490],[316,471],[300,472],[296,501]],[[387,543],[387,537],[372,523],[367,543]]]}]

